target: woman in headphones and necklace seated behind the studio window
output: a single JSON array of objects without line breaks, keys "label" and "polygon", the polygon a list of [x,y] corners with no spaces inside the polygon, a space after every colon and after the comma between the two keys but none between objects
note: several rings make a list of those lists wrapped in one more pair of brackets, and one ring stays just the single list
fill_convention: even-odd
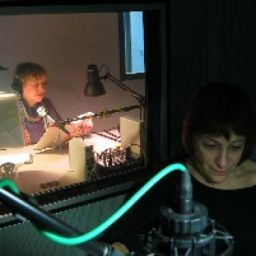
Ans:
[{"label": "woman in headphones and necklace seated behind the studio window", "polygon": [[[11,88],[20,94],[26,145],[37,143],[49,126],[53,125],[49,118],[38,114],[39,107],[43,107],[54,120],[62,120],[53,102],[45,97],[46,84],[46,70],[42,66],[34,62],[18,63]],[[90,130],[92,126],[91,120],[83,123],[84,131]]]}]

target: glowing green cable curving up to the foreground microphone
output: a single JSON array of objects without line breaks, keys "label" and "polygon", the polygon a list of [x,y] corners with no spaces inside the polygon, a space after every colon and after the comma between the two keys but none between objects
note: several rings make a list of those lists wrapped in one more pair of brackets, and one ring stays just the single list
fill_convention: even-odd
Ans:
[{"label": "glowing green cable curving up to the foreground microphone", "polygon": [[[182,164],[179,163],[175,163],[162,169],[158,174],[156,174],[153,178],[146,182],[146,184],[142,186],[142,188],[138,190],[121,208],[119,208],[112,216],[110,216],[110,218],[106,219],[105,222],[102,222],[102,224],[97,226],[94,230],[91,230],[86,234],[82,234],[75,238],[66,238],[58,234],[53,234],[46,230],[41,230],[42,234],[44,234],[46,238],[49,238],[54,242],[66,246],[72,246],[80,244],[82,242],[87,242],[88,240],[98,236],[98,234],[101,234],[104,230],[106,230],[109,226],[116,222],[118,218],[125,214],[126,211],[129,210],[130,207],[133,206],[134,203],[138,201],[138,199],[142,198],[142,196],[146,194],[146,192],[150,190],[150,188],[154,186],[154,184],[156,184],[161,178],[165,177],[166,174],[169,174],[173,170],[186,171],[186,166],[183,166]],[[0,181],[0,188],[3,186],[8,186],[11,190],[14,191],[14,193],[19,194],[17,186],[15,186],[14,182],[12,182],[11,180],[2,179]]]}]

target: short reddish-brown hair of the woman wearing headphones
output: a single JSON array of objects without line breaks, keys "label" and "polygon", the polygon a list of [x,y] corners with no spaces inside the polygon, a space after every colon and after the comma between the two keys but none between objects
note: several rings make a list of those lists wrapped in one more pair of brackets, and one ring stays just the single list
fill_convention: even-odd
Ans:
[{"label": "short reddish-brown hair of the woman wearing headphones", "polygon": [[11,88],[22,94],[22,82],[27,78],[39,78],[46,74],[46,70],[34,62],[20,62],[14,70],[14,81]]}]

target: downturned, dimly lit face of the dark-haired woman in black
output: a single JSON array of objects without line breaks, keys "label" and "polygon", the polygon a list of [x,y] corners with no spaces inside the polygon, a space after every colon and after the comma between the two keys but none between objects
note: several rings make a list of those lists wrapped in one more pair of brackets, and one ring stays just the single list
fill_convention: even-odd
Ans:
[{"label": "downturned, dimly lit face of the dark-haired woman in black", "polygon": [[195,148],[200,159],[198,173],[209,183],[226,181],[238,165],[245,143],[245,136],[234,133],[231,133],[230,140],[222,136],[199,136],[195,139]]}]

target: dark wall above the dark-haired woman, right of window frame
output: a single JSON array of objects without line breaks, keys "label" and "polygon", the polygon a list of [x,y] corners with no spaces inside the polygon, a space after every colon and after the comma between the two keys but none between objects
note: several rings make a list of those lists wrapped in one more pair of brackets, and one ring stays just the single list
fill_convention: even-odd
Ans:
[{"label": "dark wall above the dark-haired woman, right of window frame", "polygon": [[[256,2],[173,0],[170,6],[170,132],[181,154],[187,102],[206,80],[242,86],[256,113]],[[239,104],[239,102],[238,102]]]}]

